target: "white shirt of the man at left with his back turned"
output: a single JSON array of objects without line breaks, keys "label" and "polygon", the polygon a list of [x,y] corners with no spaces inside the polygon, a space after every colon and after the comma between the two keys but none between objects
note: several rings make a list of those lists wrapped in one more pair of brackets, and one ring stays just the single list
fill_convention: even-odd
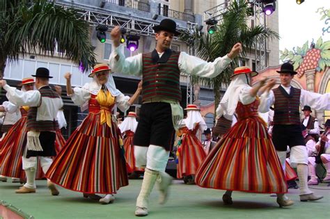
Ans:
[{"label": "white shirt of the man at left with his back turned", "polygon": [[41,94],[39,90],[23,92],[22,90],[17,90],[16,88],[8,86],[8,84],[3,86],[3,89],[7,91],[6,96],[9,101],[17,106],[38,106],[37,121],[57,120],[58,109],[63,107],[61,98],[42,97],[40,105]]}]

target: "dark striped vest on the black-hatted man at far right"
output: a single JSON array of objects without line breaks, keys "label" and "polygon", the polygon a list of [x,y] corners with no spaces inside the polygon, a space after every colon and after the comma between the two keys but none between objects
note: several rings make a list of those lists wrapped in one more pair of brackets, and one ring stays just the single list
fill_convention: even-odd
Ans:
[{"label": "dark striped vest on the black-hatted man at far right", "polygon": [[279,86],[273,89],[274,124],[299,124],[300,125],[300,93],[301,90],[291,87],[290,95]]}]

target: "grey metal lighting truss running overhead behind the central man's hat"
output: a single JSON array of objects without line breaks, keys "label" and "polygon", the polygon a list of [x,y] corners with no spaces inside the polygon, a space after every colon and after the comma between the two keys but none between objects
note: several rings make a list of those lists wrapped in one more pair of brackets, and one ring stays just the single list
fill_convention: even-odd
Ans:
[{"label": "grey metal lighting truss running overhead behind the central man's hat", "polygon": [[[67,4],[67,3],[56,3],[60,6],[72,7],[77,10],[77,13],[89,22],[91,26],[97,26],[103,24],[108,26],[110,29],[114,26],[120,26],[130,33],[136,33],[139,35],[155,35],[152,27],[159,24],[158,22],[151,19],[144,19],[142,17],[136,17],[134,15],[124,15],[118,12],[113,12],[104,8],[95,8],[95,10],[87,9],[86,6],[80,6],[79,4]],[[102,12],[97,11],[102,10]],[[106,12],[107,11],[107,12]],[[196,25],[196,23],[187,22],[187,26],[178,26],[178,30],[187,30]]]}]

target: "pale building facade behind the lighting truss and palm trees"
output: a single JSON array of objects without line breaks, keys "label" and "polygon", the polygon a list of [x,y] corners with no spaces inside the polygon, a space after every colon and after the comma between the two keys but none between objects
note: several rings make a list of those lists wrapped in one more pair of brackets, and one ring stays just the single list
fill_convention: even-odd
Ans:
[{"label": "pale building facade behind the lighting truss and palm trees", "polygon": [[[203,18],[205,11],[210,8],[217,7],[219,4],[228,3],[222,0],[57,0],[56,3],[65,7],[74,7],[78,13],[81,14],[81,19],[89,22],[89,33],[91,35],[91,43],[95,47],[95,54],[98,63],[107,63],[109,55],[113,49],[110,31],[113,26],[120,25],[127,30],[127,33],[140,35],[139,48],[136,51],[129,51],[123,44],[123,52],[125,56],[133,56],[142,52],[152,51],[155,48],[155,33],[152,31],[152,26],[159,24],[159,22],[168,17],[174,19],[178,25],[178,29],[189,29],[194,25],[205,26],[205,19]],[[251,19],[252,20],[252,19]],[[249,20],[250,25],[254,25]],[[278,31],[278,13],[266,18],[267,27]],[[104,24],[109,27],[107,31],[107,40],[101,43],[97,40],[97,31],[95,27],[98,24]],[[206,28],[204,28],[206,29]],[[184,42],[177,39],[173,40],[171,49],[176,51],[187,51],[189,48]],[[65,131],[65,137],[70,136],[72,130],[84,119],[86,112],[81,112],[81,109],[74,106],[71,99],[65,94],[65,79],[63,75],[66,72],[72,73],[72,86],[83,86],[84,83],[91,81],[87,74],[81,73],[79,67],[70,62],[70,60],[59,56],[41,56],[38,54],[31,54],[28,57],[20,58],[16,63],[8,63],[4,72],[4,79],[8,80],[11,86],[17,86],[22,78],[31,76],[38,67],[49,68],[53,79],[51,84],[63,86],[63,100],[65,102],[64,112],[66,120],[68,121],[68,129]],[[254,54],[251,53],[246,57],[245,65],[253,67]],[[267,42],[267,66],[278,65],[278,40]],[[116,86],[125,95],[132,95],[140,81],[138,76],[127,76],[116,72],[113,74]],[[182,106],[188,102],[187,90],[189,89],[189,79],[187,76],[182,76],[180,79],[182,88]],[[1,93],[1,102],[6,100]],[[192,95],[192,92],[190,92]],[[214,96],[211,88],[201,87],[199,93],[201,106],[212,104]],[[130,111],[139,111],[141,99],[136,102]],[[121,113],[120,115],[124,115]],[[207,124],[212,127],[213,122],[212,113],[206,115]]]}]

